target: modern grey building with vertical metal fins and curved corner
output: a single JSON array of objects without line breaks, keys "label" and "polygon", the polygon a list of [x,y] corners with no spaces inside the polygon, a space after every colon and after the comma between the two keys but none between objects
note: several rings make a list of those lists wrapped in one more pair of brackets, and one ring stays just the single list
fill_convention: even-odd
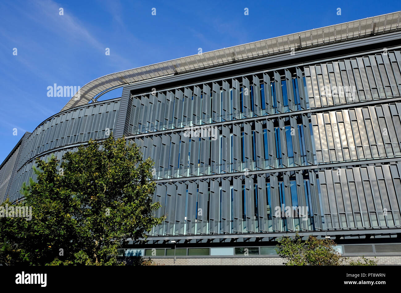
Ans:
[{"label": "modern grey building with vertical metal fins and curved corner", "polygon": [[[113,73],[25,133],[0,166],[113,131],[154,162],[165,222],[121,251],[162,263],[279,264],[283,235],[401,264],[401,12]],[[122,96],[97,99],[123,87]],[[174,258],[175,254],[175,258]],[[174,260],[176,259],[176,260]]]}]

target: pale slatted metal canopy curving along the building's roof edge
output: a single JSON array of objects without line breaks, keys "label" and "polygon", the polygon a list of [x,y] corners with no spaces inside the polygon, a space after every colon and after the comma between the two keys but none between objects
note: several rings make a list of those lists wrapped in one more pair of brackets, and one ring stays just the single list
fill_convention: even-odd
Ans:
[{"label": "pale slatted metal canopy curving along the building's roof edge", "polygon": [[400,17],[401,11],[397,11],[111,73],[81,87],[61,111],[96,101],[97,95],[110,89],[144,80],[394,32],[401,30]]}]

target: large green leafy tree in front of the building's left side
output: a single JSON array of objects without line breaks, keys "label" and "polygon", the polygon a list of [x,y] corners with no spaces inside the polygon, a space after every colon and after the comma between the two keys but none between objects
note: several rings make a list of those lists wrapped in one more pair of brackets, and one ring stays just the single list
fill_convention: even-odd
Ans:
[{"label": "large green leafy tree in front of the building's left side", "polygon": [[125,138],[91,140],[60,168],[54,157],[35,162],[37,182],[24,184],[23,202],[13,205],[32,206],[32,219],[0,218],[3,264],[115,265],[128,238],[146,238],[165,219],[152,203],[154,163]]}]

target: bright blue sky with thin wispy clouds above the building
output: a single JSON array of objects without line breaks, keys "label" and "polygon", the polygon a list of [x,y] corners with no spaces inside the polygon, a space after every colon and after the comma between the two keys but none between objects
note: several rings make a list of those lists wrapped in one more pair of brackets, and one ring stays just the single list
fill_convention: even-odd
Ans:
[{"label": "bright blue sky with thin wispy clouds above the building", "polygon": [[399,0],[1,0],[0,163],[25,131],[69,101],[48,97],[54,84],[82,87],[109,73],[194,55],[199,48],[207,52],[399,10]]}]

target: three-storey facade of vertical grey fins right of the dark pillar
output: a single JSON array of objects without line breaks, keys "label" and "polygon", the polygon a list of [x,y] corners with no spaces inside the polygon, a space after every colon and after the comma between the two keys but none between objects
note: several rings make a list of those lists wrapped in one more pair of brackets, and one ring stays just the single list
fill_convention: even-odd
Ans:
[{"label": "three-storey facade of vertical grey fins right of the dark pillar", "polygon": [[391,51],[131,95],[129,138],[155,161],[167,215],[152,235],[400,227],[401,107],[386,101],[400,61]]}]

